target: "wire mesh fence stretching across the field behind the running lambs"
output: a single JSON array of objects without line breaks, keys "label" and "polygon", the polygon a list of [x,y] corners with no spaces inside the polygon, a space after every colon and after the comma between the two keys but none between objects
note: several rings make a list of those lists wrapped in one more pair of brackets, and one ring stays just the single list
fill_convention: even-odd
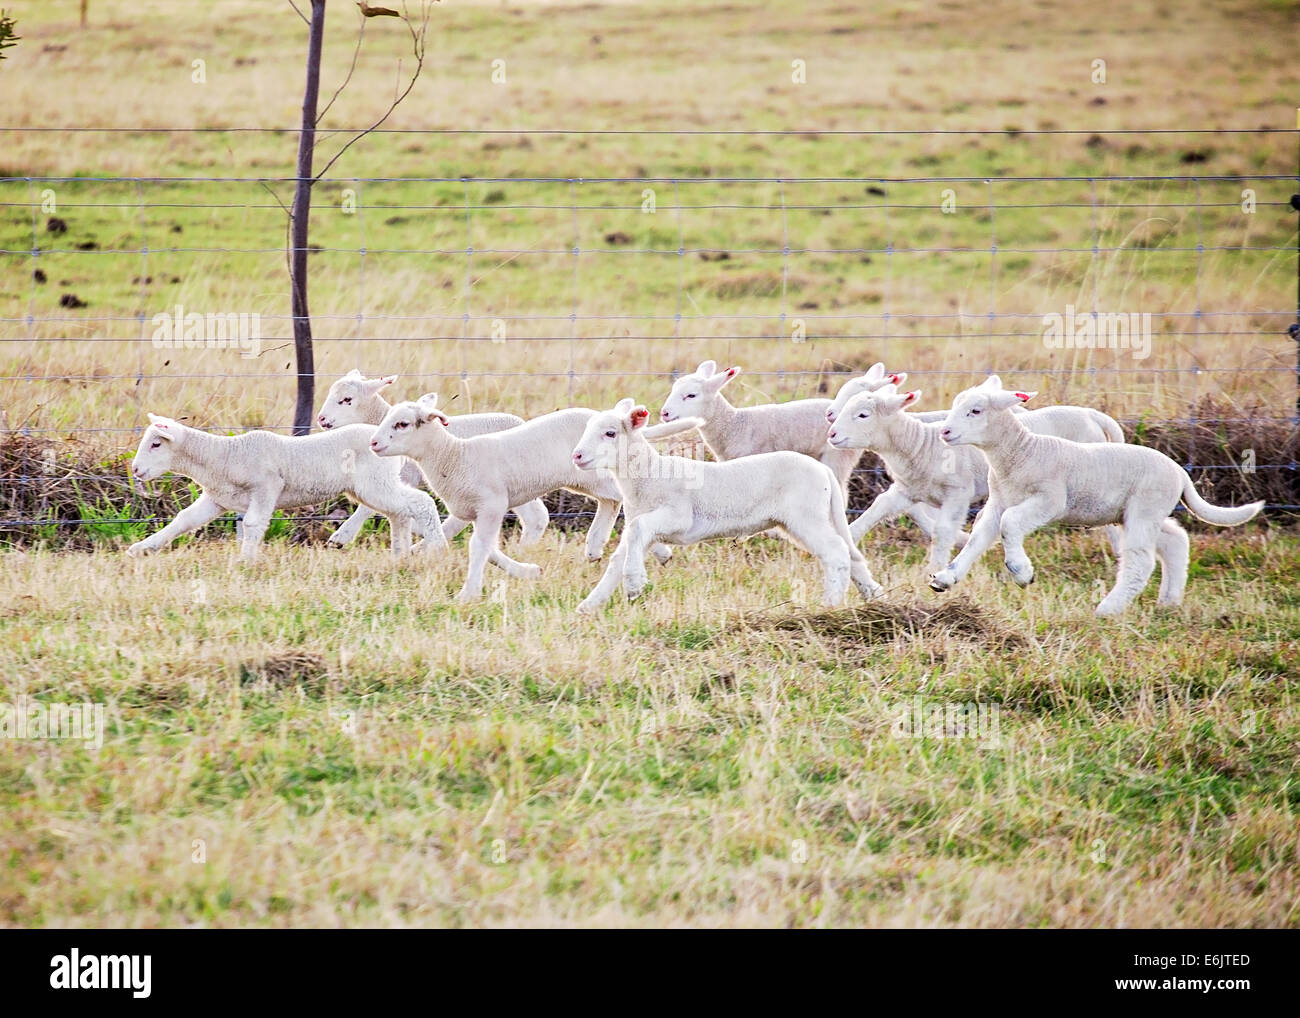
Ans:
[{"label": "wire mesh fence stretching across the field behind the running lambs", "polygon": [[[0,127],[0,138],[42,130],[226,146],[294,134]],[[1290,164],[1300,131],[381,130],[372,142],[482,137],[486,152],[520,150],[526,161],[575,135],[705,150],[852,139],[864,165],[875,146],[923,135],[989,153],[1030,140],[1040,161],[1067,165],[1013,173],[989,155],[987,174],[931,173],[942,160],[923,144],[904,172],[880,176],[322,179],[308,251],[317,404],[352,367],[400,372],[411,395],[450,385],[467,407],[473,394],[476,408],[524,416],[628,391],[653,402],[703,359],[744,364],[741,403],[833,395],[883,360],[940,407],[998,372],[1041,384],[1052,402],[1108,410],[1139,441],[1152,426],[1182,428],[1186,441],[1167,451],[1195,475],[1253,475],[1274,508],[1300,508],[1300,497],[1275,494],[1297,476],[1300,174]],[[1134,142],[1143,135],[1148,150]],[[1078,138],[1144,172],[1069,172],[1056,150]],[[1214,161],[1226,169],[1210,172]],[[295,183],[0,169],[4,434],[92,449],[100,468],[77,462],[61,476],[116,484],[122,504],[139,507],[121,456],[105,452],[134,445],[143,410],[221,433],[289,430]],[[34,467],[25,455],[0,469],[0,530],[147,519],[32,511],[25,489],[48,485],[49,454]],[[862,469],[879,477],[879,465]]]}]

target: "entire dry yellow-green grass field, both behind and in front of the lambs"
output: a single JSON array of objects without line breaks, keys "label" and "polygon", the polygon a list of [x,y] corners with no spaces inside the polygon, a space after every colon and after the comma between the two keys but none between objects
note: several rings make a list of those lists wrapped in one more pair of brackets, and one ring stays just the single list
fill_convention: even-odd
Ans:
[{"label": "entire dry yellow-green grass field, both behind and in front of the lambs", "polygon": [[[287,424],[276,198],[92,178],[291,174],[292,134],[234,129],[296,124],[302,22],[91,0],[82,31],[74,3],[6,7],[23,39],[0,64],[0,428],[121,472],[146,411]],[[1297,13],[447,0],[389,126],[802,134],[363,139],[317,190],[321,377],[400,372],[404,393],[526,415],[655,407],[705,358],[745,365],[742,403],[879,359],[927,407],[994,368],[1126,419],[1205,395],[1288,417],[1295,181],[1261,183],[1247,215],[1234,174],[1294,174],[1296,135],[1157,131],[1294,127]],[[355,20],[330,5],[326,98]],[[382,112],[398,39],[368,26],[329,124]],[[51,126],[230,130],[31,130]],[[809,133],[850,129],[1001,134]],[[1050,130],[1082,133],[1034,134]],[[1115,179],[1196,173],[1231,179]],[[1032,176],[1084,179],[1000,179]],[[645,181],[537,177],[668,183],[651,216]],[[945,215],[933,178],[953,177],[972,183]],[[66,233],[34,215],[46,185]],[[142,321],[177,303],[259,312],[268,348],[153,348]],[[1066,303],[1156,313],[1152,356],[1044,348],[1040,316]],[[991,334],[991,309],[1024,317]],[[697,546],[594,620],[573,607],[599,567],[558,528],[540,580],[491,576],[472,607],[452,601],[463,543],[394,564],[382,536],[278,540],[243,567],[229,538],[136,562],[127,527],[94,533],[90,551],[53,524],[0,550],[0,703],[105,707],[99,749],[0,745],[6,924],[1300,924],[1300,533],[1280,519],[1195,530],[1187,605],[1157,611],[1152,589],[1106,624],[1114,563],[1072,532],[1031,540],[1026,590],[994,551],[940,597],[915,530],[883,529],[864,551],[887,598],[840,612],[784,543]],[[900,731],[918,698],[996,724]]]}]

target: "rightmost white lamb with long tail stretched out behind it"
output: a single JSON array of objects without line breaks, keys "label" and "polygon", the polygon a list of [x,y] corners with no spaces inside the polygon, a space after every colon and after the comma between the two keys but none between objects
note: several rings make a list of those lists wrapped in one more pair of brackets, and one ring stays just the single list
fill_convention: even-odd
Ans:
[{"label": "rightmost white lamb with long tail stretched out behind it", "polygon": [[952,446],[974,446],[989,463],[989,497],[966,547],[931,577],[946,590],[970,571],[998,538],[1006,568],[1017,584],[1034,580],[1024,538],[1049,523],[1074,527],[1123,524],[1123,551],[1115,585],[1097,606],[1097,615],[1119,615],[1141,592],[1160,560],[1158,605],[1179,605],[1187,586],[1187,532],[1170,514],[1182,502],[1206,523],[1236,527],[1254,516],[1264,502],[1239,508],[1212,506],[1201,498],[1182,467],[1154,449],[1131,445],[1070,442],[1034,434],[1013,406],[1034,393],[1004,391],[997,376],[953,400],[940,430]]}]

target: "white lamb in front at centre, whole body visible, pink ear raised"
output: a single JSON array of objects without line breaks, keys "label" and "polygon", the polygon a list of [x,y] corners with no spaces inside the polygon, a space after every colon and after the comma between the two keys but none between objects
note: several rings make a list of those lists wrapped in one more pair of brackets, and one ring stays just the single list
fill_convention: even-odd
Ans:
[{"label": "white lamb in front at centre, whole body visible, pink ear raised", "polygon": [[698,419],[646,428],[650,412],[623,399],[588,421],[573,450],[585,471],[615,471],[627,523],[604,576],[578,605],[590,612],[614,594],[619,580],[629,598],[646,584],[645,553],[654,541],[693,545],[712,537],[742,537],[781,528],[816,555],[826,572],[826,602],[844,601],[849,579],[864,597],[879,597],[844,516],[844,495],[829,467],[798,452],[760,452],[703,463],[662,456],[646,441],[666,429],[699,426]]}]

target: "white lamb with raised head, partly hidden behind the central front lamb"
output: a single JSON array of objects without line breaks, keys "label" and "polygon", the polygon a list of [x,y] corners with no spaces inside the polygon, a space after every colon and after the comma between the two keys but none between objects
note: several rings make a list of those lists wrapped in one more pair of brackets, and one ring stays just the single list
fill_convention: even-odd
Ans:
[{"label": "white lamb with raised head, partly hidden behind the central front lamb", "polygon": [[672,391],[663,400],[659,417],[664,423],[680,417],[699,417],[699,434],[714,454],[714,459],[728,460],[753,456],[755,452],[789,450],[820,460],[840,481],[840,490],[848,493],[849,475],[862,452],[831,449],[826,443],[826,411],[829,399],[794,399],[789,403],[763,403],[757,407],[733,407],[722,389],[740,373],[740,368],[718,371],[718,365],[703,361],[692,374],[684,374],[672,384]]}]

